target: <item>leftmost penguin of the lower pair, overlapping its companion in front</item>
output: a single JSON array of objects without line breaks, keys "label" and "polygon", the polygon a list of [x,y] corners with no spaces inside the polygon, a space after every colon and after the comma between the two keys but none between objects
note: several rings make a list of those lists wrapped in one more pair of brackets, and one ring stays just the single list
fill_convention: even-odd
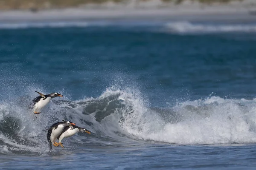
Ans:
[{"label": "leftmost penguin of the lower pair, overlapping its companion in front", "polygon": [[[56,139],[61,134],[64,127],[69,126],[69,125],[76,125],[75,123],[72,123],[69,121],[65,121],[65,120],[62,120],[62,121],[63,122],[57,122],[57,123],[53,124],[51,127],[49,127],[48,129],[46,129],[46,130],[48,130],[47,140],[49,142],[50,149],[52,149],[52,144],[54,146],[60,145],[60,143],[56,142]],[[45,130],[42,130],[42,131],[45,131]]]}]

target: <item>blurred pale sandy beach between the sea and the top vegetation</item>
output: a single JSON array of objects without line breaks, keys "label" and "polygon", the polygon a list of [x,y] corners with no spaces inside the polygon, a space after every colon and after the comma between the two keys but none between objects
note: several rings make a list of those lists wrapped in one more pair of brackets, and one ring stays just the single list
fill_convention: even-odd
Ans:
[{"label": "blurred pale sandy beach between the sea and the top vegetation", "polygon": [[198,3],[185,0],[180,4],[161,0],[126,3],[89,3],[68,8],[40,10],[15,9],[0,11],[0,22],[54,21],[54,20],[229,20],[230,22],[256,20],[256,0],[229,3]]}]

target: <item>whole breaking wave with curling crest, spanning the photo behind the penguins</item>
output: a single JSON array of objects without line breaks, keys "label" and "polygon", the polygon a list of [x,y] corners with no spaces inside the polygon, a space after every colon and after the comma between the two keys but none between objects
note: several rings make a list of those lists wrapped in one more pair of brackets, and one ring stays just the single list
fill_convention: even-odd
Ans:
[{"label": "whole breaking wave with curling crest, spanning the photo behind the penguins", "polygon": [[53,99],[40,115],[34,115],[27,103],[35,96],[19,97],[16,102],[1,102],[0,154],[47,154],[46,133],[41,130],[61,119],[92,131],[91,135],[79,133],[64,139],[65,147],[141,142],[256,142],[256,99],[211,96],[177,103],[169,108],[150,108],[139,91],[112,86],[98,98],[79,101]]}]

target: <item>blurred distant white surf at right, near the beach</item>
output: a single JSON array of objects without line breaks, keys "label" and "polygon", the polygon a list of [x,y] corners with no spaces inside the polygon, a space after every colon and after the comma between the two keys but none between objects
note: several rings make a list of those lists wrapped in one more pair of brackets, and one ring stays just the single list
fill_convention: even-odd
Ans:
[{"label": "blurred distant white surf at right, near the beach", "polygon": [[255,24],[202,24],[187,21],[166,23],[167,31],[175,33],[218,33],[218,32],[256,32]]}]

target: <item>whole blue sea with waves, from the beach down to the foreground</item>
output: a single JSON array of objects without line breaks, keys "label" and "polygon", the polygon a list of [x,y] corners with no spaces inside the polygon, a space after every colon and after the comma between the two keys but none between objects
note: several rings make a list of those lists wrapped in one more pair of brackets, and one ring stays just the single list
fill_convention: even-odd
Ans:
[{"label": "whole blue sea with waves, from the beach down to the foreground", "polygon": [[0,170],[255,170],[255,85],[255,21],[2,22]]}]

